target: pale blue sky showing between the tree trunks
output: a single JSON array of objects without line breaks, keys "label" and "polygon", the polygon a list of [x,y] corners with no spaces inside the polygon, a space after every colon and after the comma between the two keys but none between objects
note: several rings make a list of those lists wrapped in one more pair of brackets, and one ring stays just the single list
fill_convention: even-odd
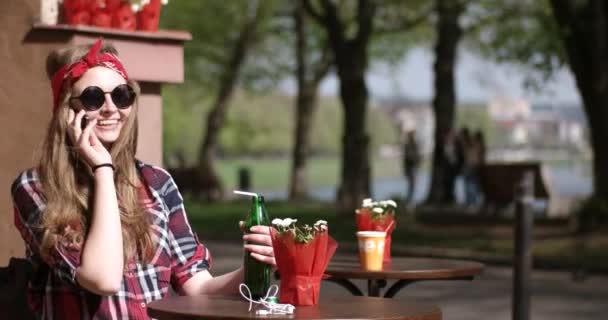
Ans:
[{"label": "pale blue sky showing between the tree trunks", "polygon": [[[403,96],[430,101],[433,96],[433,53],[416,48],[395,66],[372,66],[367,85],[372,98]],[[459,51],[456,66],[456,96],[459,103],[486,102],[502,96],[524,98],[531,103],[580,105],[580,97],[570,70],[564,68],[545,83],[541,92],[523,88],[524,70],[518,66],[498,65],[470,52]],[[284,86],[293,90],[293,83]],[[336,95],[335,76],[321,84],[321,94]],[[397,94],[395,94],[397,93]]]}]

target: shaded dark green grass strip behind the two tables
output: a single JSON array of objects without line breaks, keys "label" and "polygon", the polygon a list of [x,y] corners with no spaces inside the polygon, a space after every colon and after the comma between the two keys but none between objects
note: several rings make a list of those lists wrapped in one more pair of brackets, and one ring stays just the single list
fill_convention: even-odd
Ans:
[{"label": "shaded dark green grass strip behind the two tables", "polygon": [[[340,243],[355,243],[355,221],[338,218],[331,204],[322,202],[286,203],[269,202],[266,205],[271,218],[297,218],[300,222],[313,224],[319,219],[327,220],[330,234]],[[201,240],[239,242],[241,233],[238,221],[249,211],[249,202],[223,202],[202,204],[186,197],[186,209],[194,230]],[[539,233],[547,228],[562,228],[566,231],[553,236],[535,234],[533,251],[535,259],[558,268],[582,265],[594,270],[608,271],[608,234],[597,232],[585,237],[567,232],[566,226],[535,225]],[[438,226],[421,224],[412,215],[397,217],[397,229],[393,233],[394,247],[402,248],[447,248],[459,249],[475,254],[488,254],[508,261],[513,254],[512,227],[504,223],[487,225]]]}]

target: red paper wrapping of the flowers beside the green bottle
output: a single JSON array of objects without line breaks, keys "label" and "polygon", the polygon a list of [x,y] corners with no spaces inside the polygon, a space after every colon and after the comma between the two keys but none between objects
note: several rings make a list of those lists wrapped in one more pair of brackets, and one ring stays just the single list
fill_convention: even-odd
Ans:
[{"label": "red paper wrapping of the flowers beside the green bottle", "polygon": [[308,243],[296,243],[293,233],[272,229],[272,246],[281,275],[279,301],[294,306],[318,304],[321,279],[338,243],[327,232]]}]

